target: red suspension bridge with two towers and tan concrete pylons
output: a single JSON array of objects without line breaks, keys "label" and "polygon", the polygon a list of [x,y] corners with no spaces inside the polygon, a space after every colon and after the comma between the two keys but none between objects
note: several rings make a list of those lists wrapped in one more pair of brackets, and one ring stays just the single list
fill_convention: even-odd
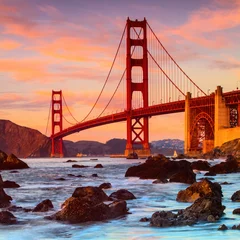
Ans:
[{"label": "red suspension bridge with two towers and tan concrete pylons", "polygon": [[[112,96],[91,118],[108,85],[115,85]],[[64,116],[63,105],[76,123]],[[62,91],[52,91],[51,155],[63,156],[63,137],[121,121],[127,122],[125,154],[139,145],[140,155],[150,155],[149,118],[177,112],[185,112],[185,153],[207,151],[239,136],[239,106],[240,91],[222,93],[218,87],[207,95],[172,58],[146,19],[128,18],[104,85],[84,119],[74,118]],[[63,120],[72,126],[63,128]]]}]

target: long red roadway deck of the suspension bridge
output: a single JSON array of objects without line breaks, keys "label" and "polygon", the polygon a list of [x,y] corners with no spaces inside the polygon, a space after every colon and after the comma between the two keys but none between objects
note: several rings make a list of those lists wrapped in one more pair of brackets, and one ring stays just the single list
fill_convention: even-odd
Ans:
[{"label": "long red roadway deck of the suspension bridge", "polygon": [[[226,92],[223,94],[223,96],[225,98],[226,105],[233,105],[233,104],[240,103],[240,90]],[[214,105],[214,94],[211,94],[209,96],[204,96],[204,97],[192,98],[190,108],[196,107],[196,106],[206,107],[210,105],[212,106]],[[99,117],[96,119],[88,120],[85,122],[77,123],[72,127],[65,128],[61,132],[58,132],[52,135],[51,138],[59,139],[59,138],[66,137],[70,134],[89,129],[89,128],[98,127],[98,126],[102,126],[110,123],[126,121],[128,114],[131,114],[132,118],[137,118],[137,117],[145,117],[145,116],[151,117],[156,115],[184,112],[184,110],[185,110],[185,100],[157,104],[154,106],[149,106],[147,108],[133,109],[131,113],[124,111],[124,112],[114,113],[114,114]]]}]

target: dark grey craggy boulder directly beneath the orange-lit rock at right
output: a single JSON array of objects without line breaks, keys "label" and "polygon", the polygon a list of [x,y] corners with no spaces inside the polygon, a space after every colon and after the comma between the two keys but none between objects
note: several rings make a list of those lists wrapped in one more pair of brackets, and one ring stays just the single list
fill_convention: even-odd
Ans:
[{"label": "dark grey craggy boulder directly beneath the orange-lit rock at right", "polygon": [[183,210],[183,216],[188,219],[194,217],[198,221],[207,221],[209,215],[219,219],[223,215],[224,209],[221,198],[204,196]]}]

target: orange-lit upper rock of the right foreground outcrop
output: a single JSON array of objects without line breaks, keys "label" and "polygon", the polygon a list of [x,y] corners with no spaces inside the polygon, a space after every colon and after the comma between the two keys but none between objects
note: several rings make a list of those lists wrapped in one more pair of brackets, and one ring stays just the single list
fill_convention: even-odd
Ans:
[{"label": "orange-lit upper rock of the right foreground outcrop", "polygon": [[200,182],[195,182],[185,190],[181,190],[177,194],[179,202],[194,202],[200,197],[222,197],[222,189],[218,183],[212,183],[208,179],[203,179]]}]

